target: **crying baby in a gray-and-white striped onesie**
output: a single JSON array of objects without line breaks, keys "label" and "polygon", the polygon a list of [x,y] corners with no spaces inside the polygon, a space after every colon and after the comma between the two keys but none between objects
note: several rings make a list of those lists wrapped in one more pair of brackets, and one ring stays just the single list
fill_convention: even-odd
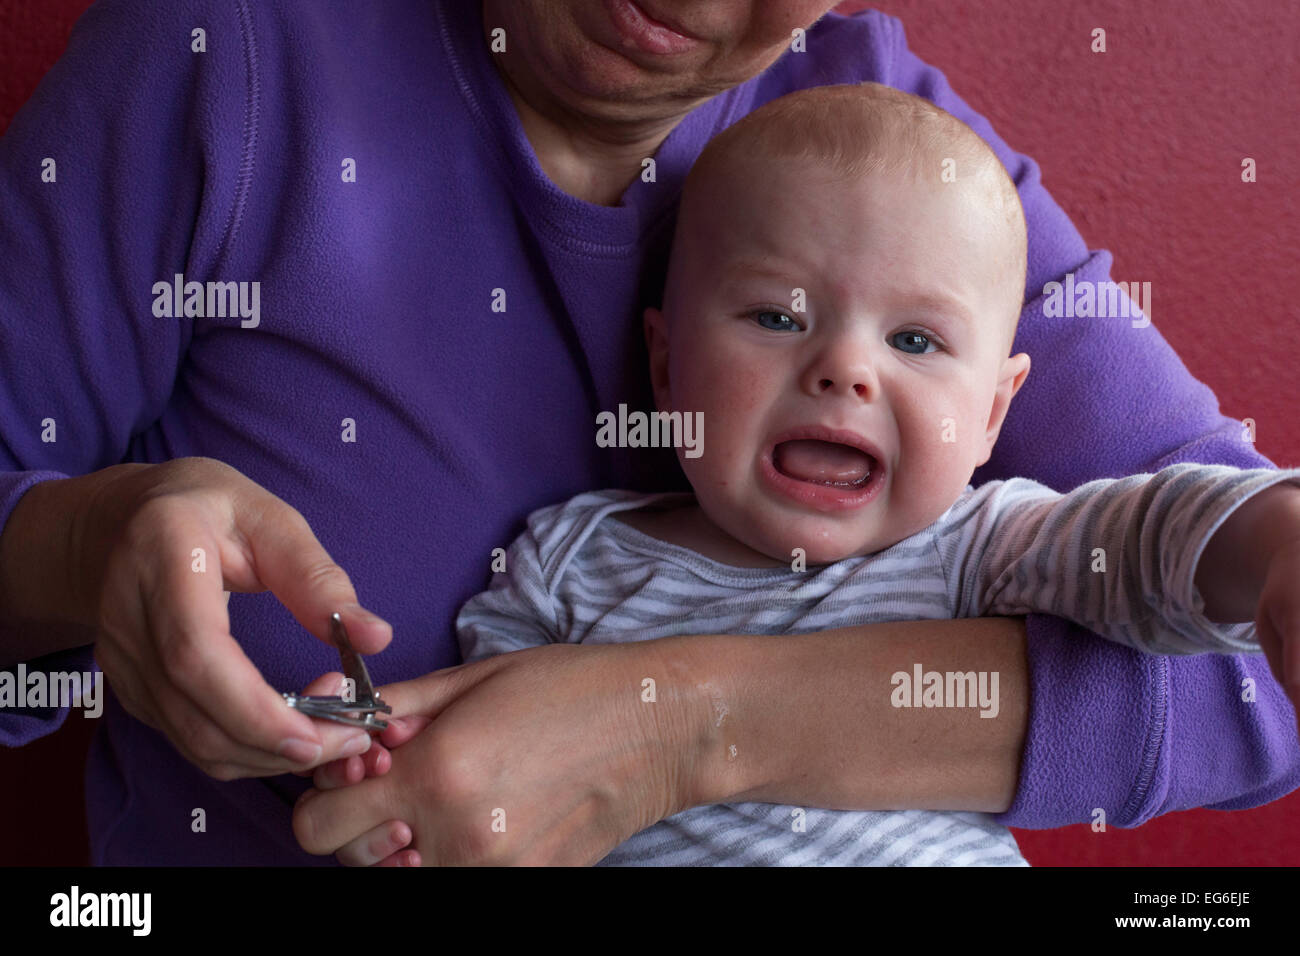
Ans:
[{"label": "crying baby in a gray-and-white striped onesie", "polygon": [[[1258,652],[1252,624],[1212,619],[1254,618],[1264,581],[1243,598],[1223,568],[1258,550],[1260,509],[1300,541],[1300,471],[968,485],[1030,371],[1009,355],[1026,246],[994,153],[907,94],[805,90],[718,135],[645,315],[659,408],[702,412],[703,454],[677,451],[694,496],[604,490],[530,515],[460,613],[465,661],[1030,611],[1149,653]],[[894,675],[897,706],[956,691],[996,715],[997,675],[920,670]],[[660,821],[602,861],[619,864],[1027,865],[988,814],[757,803]]]}]

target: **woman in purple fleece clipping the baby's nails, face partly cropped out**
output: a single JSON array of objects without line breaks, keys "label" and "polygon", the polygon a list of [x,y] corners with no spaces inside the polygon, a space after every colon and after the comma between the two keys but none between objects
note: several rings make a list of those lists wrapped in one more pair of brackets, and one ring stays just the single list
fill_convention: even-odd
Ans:
[{"label": "woman in purple fleece clipping the baby's nails, face partly cropped out", "polygon": [[[1015,347],[1040,372],[976,484],[1268,463],[1154,328],[1044,319],[1046,282],[1104,281],[1109,255],[897,21],[740,0],[376,7],[101,4],[3,140],[0,646],[72,670],[94,640],[116,695],[87,778],[95,862],[373,864],[407,838],[426,864],[592,862],[732,799],[1011,826],[1102,808],[1132,826],[1296,786],[1262,658],[1141,658],[1046,618],[566,645],[436,672],[530,510],[684,486],[667,451],[597,447],[594,416],[651,407],[636,316],[692,160],[802,86],[924,95],[1019,186]],[[248,308],[220,308],[230,282]],[[1140,398],[1153,381],[1157,405]],[[1164,418],[1134,423],[1136,402]],[[264,588],[228,611],[222,591]],[[306,783],[285,771],[337,784],[354,740],[277,693],[334,667],[335,609],[365,653],[391,624],[372,675],[396,714],[434,719],[389,774],[313,796],[291,829]],[[998,671],[1000,717],[893,710],[888,676],[918,661]],[[0,726],[23,743],[65,713]],[[194,808],[220,839],[192,831]],[[508,840],[485,808],[507,810]]]}]

